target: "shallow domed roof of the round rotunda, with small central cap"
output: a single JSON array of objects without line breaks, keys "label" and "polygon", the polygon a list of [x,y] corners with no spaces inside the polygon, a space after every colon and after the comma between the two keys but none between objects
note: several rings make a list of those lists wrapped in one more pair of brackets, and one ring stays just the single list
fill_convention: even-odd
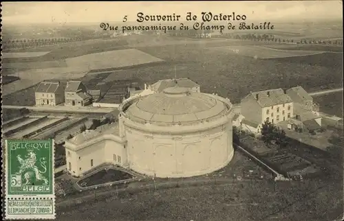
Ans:
[{"label": "shallow domed roof of the round rotunda, with small central cap", "polygon": [[151,124],[182,124],[215,117],[226,110],[226,104],[211,95],[175,86],[164,89],[162,93],[140,97],[125,110],[125,114],[134,121]]}]

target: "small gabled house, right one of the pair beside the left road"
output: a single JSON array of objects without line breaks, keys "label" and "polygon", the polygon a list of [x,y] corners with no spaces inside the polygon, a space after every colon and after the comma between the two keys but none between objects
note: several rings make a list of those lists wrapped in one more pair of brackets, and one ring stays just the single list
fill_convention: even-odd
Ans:
[{"label": "small gabled house, right one of the pair beside the left road", "polygon": [[92,96],[87,93],[83,82],[69,81],[65,89],[65,106],[85,106],[91,104]]}]

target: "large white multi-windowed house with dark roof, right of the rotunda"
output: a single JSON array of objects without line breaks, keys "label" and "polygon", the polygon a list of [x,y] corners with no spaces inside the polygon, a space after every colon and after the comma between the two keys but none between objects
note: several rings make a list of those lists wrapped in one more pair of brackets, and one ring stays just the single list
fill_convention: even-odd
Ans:
[{"label": "large white multi-windowed house with dark roof, right of the rotunda", "polygon": [[241,115],[246,121],[277,124],[293,117],[293,102],[283,89],[250,92],[241,100]]}]

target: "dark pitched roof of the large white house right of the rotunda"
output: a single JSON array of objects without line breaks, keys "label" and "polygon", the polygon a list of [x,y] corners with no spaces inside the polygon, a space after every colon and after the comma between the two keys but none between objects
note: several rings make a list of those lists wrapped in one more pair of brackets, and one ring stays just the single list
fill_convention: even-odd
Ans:
[{"label": "dark pitched roof of the large white house right of the rotunda", "polygon": [[292,102],[292,99],[289,97],[289,95],[284,93],[283,89],[272,89],[266,91],[251,92],[248,96],[252,96],[253,99],[257,100],[258,104],[261,107],[274,106],[277,104],[286,104]]}]

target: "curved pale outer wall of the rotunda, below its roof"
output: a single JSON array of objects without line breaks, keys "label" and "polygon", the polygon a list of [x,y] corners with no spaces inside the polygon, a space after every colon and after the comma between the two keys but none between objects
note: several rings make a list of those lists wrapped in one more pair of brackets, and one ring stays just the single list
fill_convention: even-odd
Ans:
[{"label": "curved pale outer wall of the rotunda, below its roof", "polygon": [[169,135],[125,126],[125,134],[129,167],[149,176],[208,174],[226,166],[234,154],[231,120],[202,132]]}]

